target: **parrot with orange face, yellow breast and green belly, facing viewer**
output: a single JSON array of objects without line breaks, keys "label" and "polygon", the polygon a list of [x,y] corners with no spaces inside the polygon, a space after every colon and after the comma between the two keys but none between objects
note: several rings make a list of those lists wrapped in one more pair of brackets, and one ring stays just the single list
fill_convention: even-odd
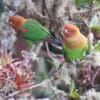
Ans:
[{"label": "parrot with orange face, yellow breast and green belly, facing viewer", "polygon": [[66,60],[73,61],[84,56],[88,41],[76,25],[64,25],[62,34],[62,47]]}]

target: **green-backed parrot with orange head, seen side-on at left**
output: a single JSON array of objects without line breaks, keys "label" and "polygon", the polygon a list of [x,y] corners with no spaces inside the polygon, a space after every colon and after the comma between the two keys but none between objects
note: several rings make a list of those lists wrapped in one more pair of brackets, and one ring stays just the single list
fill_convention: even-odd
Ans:
[{"label": "green-backed parrot with orange head, seen side-on at left", "polygon": [[29,45],[51,37],[49,30],[35,19],[25,19],[22,16],[15,15],[9,18],[9,24]]}]

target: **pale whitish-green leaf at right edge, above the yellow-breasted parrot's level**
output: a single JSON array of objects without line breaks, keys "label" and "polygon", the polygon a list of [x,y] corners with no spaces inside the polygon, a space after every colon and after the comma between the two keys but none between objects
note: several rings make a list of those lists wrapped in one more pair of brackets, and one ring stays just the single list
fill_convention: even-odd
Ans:
[{"label": "pale whitish-green leaf at right edge, above the yellow-breasted parrot's level", "polygon": [[99,18],[99,16],[97,14],[94,15],[92,17],[92,19],[90,20],[89,27],[91,29],[100,30],[100,18]]}]

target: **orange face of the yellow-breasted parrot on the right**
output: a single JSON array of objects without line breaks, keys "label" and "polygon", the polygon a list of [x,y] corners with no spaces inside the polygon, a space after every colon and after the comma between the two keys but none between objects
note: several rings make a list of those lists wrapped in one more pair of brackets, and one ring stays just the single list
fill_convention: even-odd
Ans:
[{"label": "orange face of the yellow-breasted parrot on the right", "polygon": [[67,37],[72,37],[75,35],[80,34],[80,30],[79,28],[74,25],[74,24],[67,24],[64,25],[64,32],[63,35],[67,38]]}]

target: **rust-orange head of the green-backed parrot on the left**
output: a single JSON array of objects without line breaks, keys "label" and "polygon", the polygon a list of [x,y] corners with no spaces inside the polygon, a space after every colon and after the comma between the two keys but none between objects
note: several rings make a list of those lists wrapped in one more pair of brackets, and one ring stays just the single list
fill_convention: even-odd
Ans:
[{"label": "rust-orange head of the green-backed parrot on the left", "polygon": [[9,18],[9,24],[15,29],[19,30],[21,25],[25,22],[25,18],[19,15],[11,16]]}]

